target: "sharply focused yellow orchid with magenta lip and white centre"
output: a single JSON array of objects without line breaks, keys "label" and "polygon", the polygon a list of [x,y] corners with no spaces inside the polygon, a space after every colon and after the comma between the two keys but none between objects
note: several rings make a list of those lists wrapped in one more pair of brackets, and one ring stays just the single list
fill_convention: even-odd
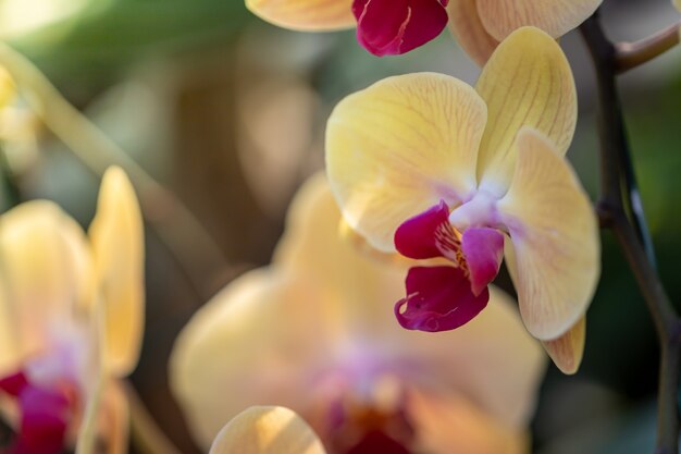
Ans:
[{"label": "sharply focused yellow orchid with magenta lip and white centre", "polygon": [[469,322],[506,255],[525,327],[559,368],[577,370],[599,241],[562,157],[575,119],[570,66],[533,27],[499,45],[475,88],[408,74],[335,108],[326,165],[345,221],[379,250],[447,262],[409,270],[395,308],[403,327]]}]

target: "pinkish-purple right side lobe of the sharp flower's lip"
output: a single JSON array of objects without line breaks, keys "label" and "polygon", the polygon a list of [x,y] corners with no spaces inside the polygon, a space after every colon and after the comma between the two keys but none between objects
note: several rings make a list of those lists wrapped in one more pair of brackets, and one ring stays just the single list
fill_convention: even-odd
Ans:
[{"label": "pinkish-purple right side lobe of the sharp flower's lip", "polygon": [[504,234],[490,228],[467,229],[461,236],[461,251],[468,263],[473,295],[480,295],[499,272]]}]

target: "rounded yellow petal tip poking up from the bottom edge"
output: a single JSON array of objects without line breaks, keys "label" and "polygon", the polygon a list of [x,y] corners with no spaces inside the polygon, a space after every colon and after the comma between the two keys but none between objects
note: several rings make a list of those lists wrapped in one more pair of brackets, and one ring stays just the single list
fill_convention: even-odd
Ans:
[{"label": "rounded yellow petal tip poking up from the bottom edge", "polygon": [[325,454],[317,434],[285,407],[250,407],[220,431],[209,454]]}]

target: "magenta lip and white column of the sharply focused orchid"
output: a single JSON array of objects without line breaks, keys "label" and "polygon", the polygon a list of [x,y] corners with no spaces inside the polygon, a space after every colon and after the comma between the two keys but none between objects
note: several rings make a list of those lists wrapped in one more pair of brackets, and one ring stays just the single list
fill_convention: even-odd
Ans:
[{"label": "magenta lip and white column of the sharply focused orchid", "polygon": [[395,306],[403,327],[453,330],[486,306],[487,284],[498,273],[504,256],[496,200],[483,191],[451,210],[441,200],[399,225],[395,247],[401,255],[412,259],[441,257],[451,263],[409,270],[407,296]]}]

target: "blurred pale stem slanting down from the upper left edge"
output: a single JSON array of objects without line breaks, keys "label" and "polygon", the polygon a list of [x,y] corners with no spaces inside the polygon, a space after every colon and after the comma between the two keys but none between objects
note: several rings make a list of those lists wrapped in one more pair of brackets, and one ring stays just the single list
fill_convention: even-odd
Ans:
[{"label": "blurred pale stem slanting down from the upper left edge", "polygon": [[[207,299],[206,277],[226,268],[220,247],[187,207],[168,188],[74,108],[24,56],[0,41],[3,65],[46,126],[92,173],[102,175],[112,164],[128,174],[150,226],[158,233],[187,275],[197,294]],[[187,238],[191,238],[187,242]]]}]

